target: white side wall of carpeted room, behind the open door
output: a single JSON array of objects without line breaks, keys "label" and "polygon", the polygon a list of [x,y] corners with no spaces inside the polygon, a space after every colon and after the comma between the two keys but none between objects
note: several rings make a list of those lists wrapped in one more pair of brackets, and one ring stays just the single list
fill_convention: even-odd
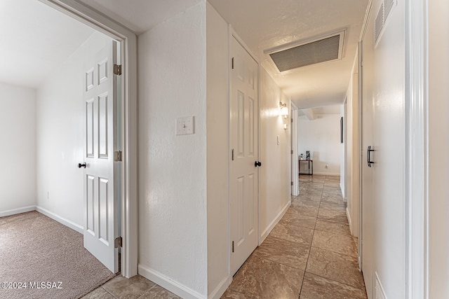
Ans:
[{"label": "white side wall of carpeted room, behind the open door", "polygon": [[[83,64],[111,39],[92,34],[36,92],[37,205],[83,225]],[[49,193],[49,198],[47,196]]]}]

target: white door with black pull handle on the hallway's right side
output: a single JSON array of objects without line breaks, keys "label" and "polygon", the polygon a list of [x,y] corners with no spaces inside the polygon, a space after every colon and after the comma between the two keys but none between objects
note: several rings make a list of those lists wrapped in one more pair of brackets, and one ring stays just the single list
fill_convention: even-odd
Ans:
[{"label": "white door with black pull handle on the hallway's right side", "polygon": [[393,18],[375,45],[374,29],[381,20],[376,16],[383,5],[373,1],[362,42],[362,272],[370,299],[406,294],[406,65],[397,59],[405,53],[405,5],[391,4]]}]

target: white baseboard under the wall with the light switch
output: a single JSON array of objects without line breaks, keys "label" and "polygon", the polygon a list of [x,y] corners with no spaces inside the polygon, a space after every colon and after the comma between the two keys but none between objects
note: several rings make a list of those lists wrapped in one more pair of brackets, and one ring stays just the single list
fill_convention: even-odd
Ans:
[{"label": "white baseboard under the wall with the light switch", "polygon": [[138,274],[142,275],[146,279],[153,281],[156,284],[159,284],[159,286],[162,286],[166,290],[180,296],[181,298],[206,299],[204,295],[201,295],[200,293],[188,288],[187,286],[183,286],[182,284],[171,280],[165,275],[155,270],[149,269],[141,264],[138,265]]}]

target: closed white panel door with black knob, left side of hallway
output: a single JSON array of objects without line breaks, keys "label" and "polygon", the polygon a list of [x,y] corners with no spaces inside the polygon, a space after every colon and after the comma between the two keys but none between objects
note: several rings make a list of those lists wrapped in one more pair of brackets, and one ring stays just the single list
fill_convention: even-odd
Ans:
[{"label": "closed white panel door with black knob, left side of hallway", "polygon": [[235,274],[258,244],[258,64],[231,39],[231,271]]}]

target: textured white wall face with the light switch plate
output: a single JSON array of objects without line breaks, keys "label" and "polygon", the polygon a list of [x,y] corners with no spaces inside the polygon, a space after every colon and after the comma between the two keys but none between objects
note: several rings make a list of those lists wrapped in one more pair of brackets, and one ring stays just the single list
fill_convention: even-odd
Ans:
[{"label": "textured white wall face with the light switch plate", "polygon": [[[139,272],[207,295],[206,2],[138,36]],[[194,116],[195,134],[175,135]]]}]

